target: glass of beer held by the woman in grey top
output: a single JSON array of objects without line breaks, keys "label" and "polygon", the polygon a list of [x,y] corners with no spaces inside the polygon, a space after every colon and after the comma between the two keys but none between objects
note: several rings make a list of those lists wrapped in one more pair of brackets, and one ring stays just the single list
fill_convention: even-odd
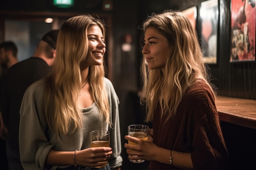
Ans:
[{"label": "glass of beer held by the woman in grey top", "polygon": [[[91,148],[97,147],[110,147],[110,133],[108,130],[94,130],[90,132]],[[108,161],[99,162],[105,163],[103,166],[97,166],[95,168],[102,168],[108,165]]]}]

